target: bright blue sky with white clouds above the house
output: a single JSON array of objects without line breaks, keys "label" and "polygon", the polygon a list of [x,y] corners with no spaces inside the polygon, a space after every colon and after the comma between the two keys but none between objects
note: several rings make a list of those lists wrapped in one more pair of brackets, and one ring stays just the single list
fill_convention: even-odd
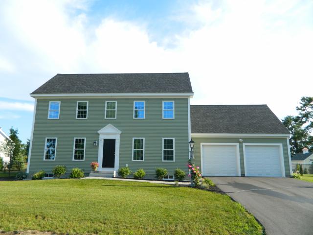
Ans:
[{"label": "bright blue sky with white clouds above the house", "polygon": [[191,104],[293,115],[312,95],[312,12],[311,0],[1,1],[0,127],[30,138],[29,93],[56,73],[187,71]]}]

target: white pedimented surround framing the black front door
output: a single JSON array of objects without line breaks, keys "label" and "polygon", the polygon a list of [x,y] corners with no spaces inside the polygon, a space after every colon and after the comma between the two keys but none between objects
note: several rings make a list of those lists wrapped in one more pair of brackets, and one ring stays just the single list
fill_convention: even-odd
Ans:
[{"label": "white pedimented surround framing the black front door", "polygon": [[98,170],[105,170],[109,168],[102,167],[102,160],[103,160],[103,140],[105,139],[114,139],[115,140],[115,160],[114,160],[114,168],[110,168],[110,170],[118,170],[119,164],[119,136],[122,132],[118,130],[111,124],[106,125],[101,130],[98,131],[99,134],[99,149],[98,149],[98,163],[99,167]]}]

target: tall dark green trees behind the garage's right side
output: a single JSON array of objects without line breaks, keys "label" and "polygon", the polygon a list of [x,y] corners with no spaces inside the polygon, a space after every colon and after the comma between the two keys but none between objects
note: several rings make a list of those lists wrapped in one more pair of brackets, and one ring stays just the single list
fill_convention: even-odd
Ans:
[{"label": "tall dark green trees behind the garage's right side", "polygon": [[304,147],[313,151],[313,97],[303,96],[296,107],[298,116],[287,116],[282,122],[291,132],[291,155],[301,153]]}]

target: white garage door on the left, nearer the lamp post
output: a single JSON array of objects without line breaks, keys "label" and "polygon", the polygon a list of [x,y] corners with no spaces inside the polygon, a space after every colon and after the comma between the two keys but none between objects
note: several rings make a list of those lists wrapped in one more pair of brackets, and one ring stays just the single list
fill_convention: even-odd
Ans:
[{"label": "white garage door on the left, nearer the lamp post", "polygon": [[240,176],[238,145],[203,144],[202,174],[205,176]]}]

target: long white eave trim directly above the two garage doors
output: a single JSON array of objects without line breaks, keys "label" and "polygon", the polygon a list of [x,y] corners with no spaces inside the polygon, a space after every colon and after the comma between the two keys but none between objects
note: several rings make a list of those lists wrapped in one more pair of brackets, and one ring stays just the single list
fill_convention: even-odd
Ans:
[{"label": "long white eave trim directly above the two garage doors", "polygon": [[227,134],[227,133],[191,133],[191,137],[247,137],[247,138],[286,138],[290,134]]}]

